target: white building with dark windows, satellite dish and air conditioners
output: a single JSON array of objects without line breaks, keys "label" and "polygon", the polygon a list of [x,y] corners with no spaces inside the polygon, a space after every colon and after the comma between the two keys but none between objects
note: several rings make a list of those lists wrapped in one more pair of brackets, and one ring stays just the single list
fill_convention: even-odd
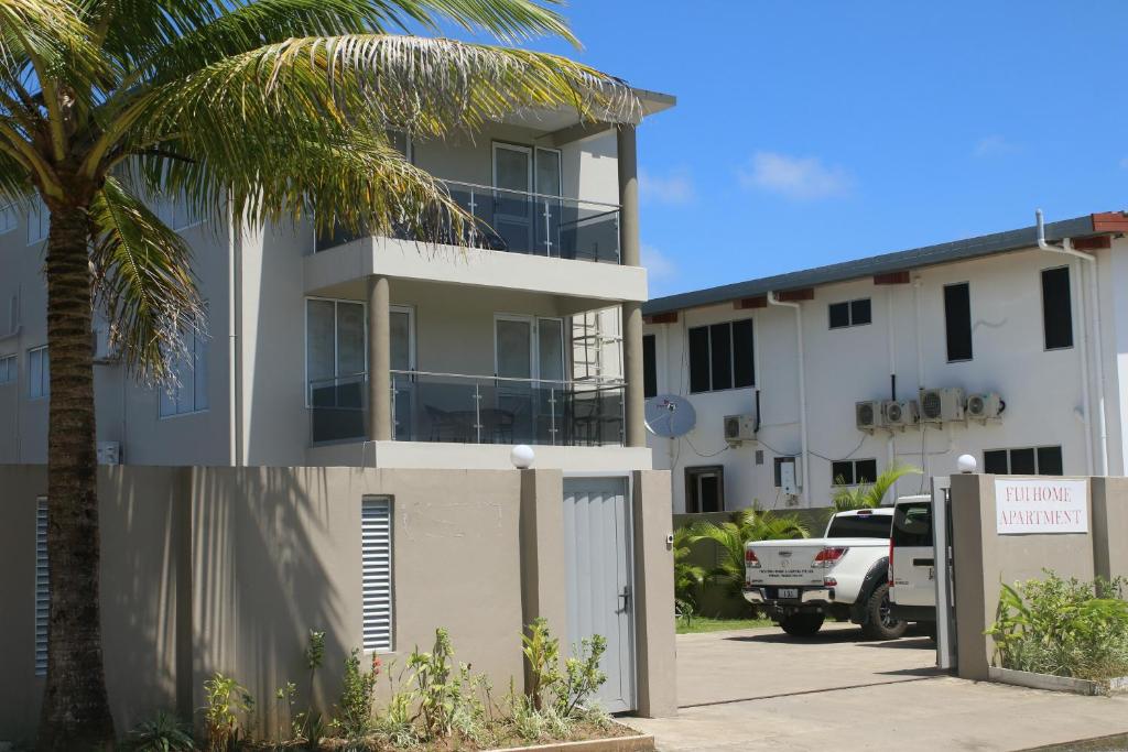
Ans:
[{"label": "white building with dark windows, satellite dish and air conditioners", "polygon": [[893,462],[924,471],[898,484],[917,493],[961,454],[1123,475],[1126,231],[1092,214],[1046,224],[1045,248],[1028,227],[650,301],[647,406],[696,413],[649,439],[673,511],[823,506]]}]

